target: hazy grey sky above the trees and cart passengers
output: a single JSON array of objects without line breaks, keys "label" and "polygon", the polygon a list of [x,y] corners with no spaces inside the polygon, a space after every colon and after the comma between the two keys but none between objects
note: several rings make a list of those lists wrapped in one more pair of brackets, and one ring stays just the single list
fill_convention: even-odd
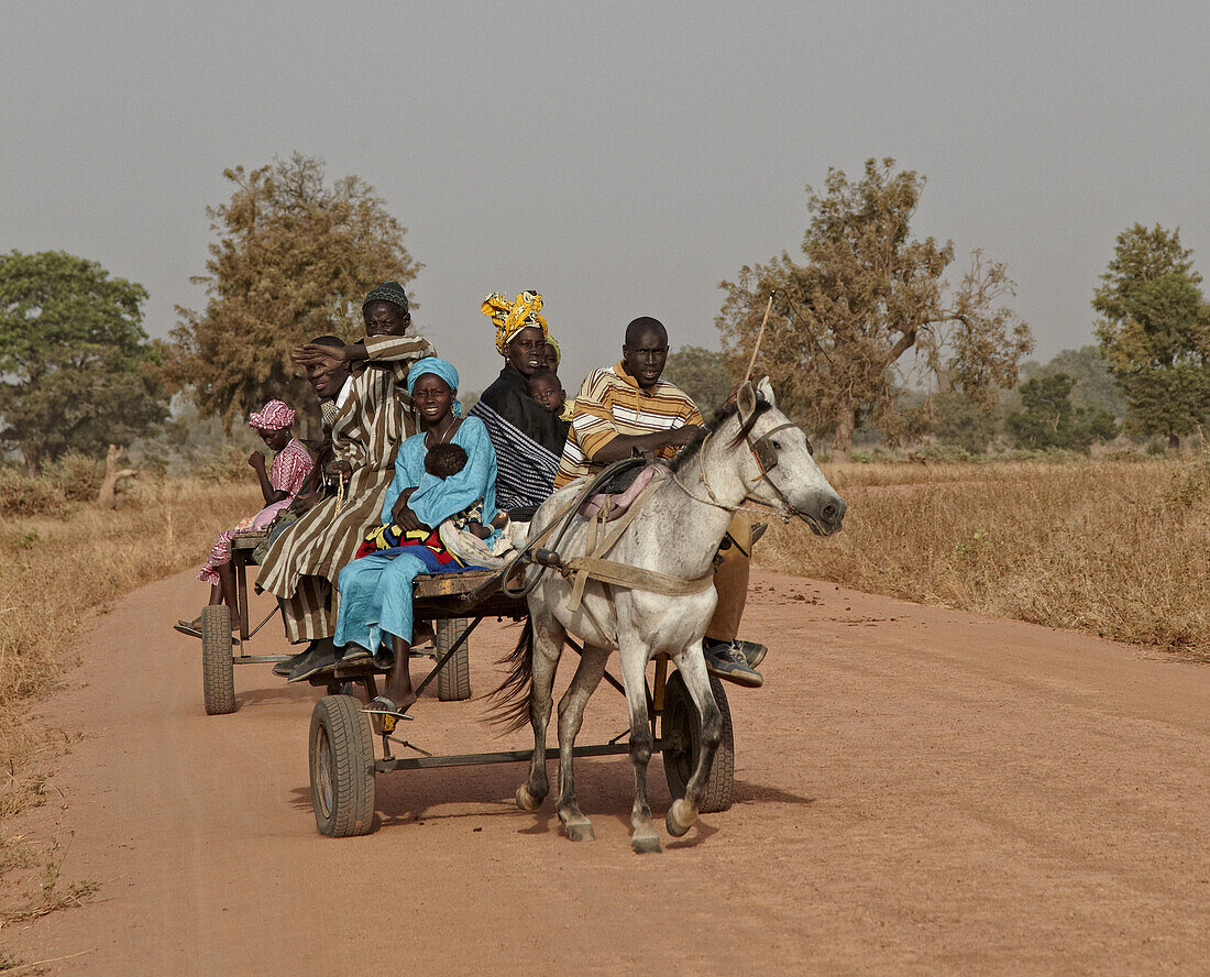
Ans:
[{"label": "hazy grey sky above the trees and cart passengers", "polygon": [[[1210,4],[6,4],[0,251],[151,292],[165,335],[225,167],[357,173],[425,264],[415,320],[482,389],[478,308],[536,287],[569,389],[626,322],[718,345],[718,283],[796,253],[807,184],[894,156],[915,230],[1008,264],[1037,355],[1090,341],[1133,222],[1210,275]],[[953,266],[955,277],[957,264]]]}]

